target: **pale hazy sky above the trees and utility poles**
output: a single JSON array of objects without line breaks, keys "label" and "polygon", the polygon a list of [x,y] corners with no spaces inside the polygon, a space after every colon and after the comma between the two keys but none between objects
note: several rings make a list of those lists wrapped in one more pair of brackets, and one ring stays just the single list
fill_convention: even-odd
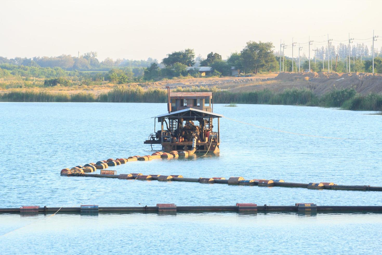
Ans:
[{"label": "pale hazy sky above the trees and utility poles", "polygon": [[[318,41],[325,41],[328,33],[330,39],[337,40],[333,43],[347,43],[351,32],[354,41],[368,46],[373,29],[382,36],[380,0],[0,3],[0,56],[8,58],[97,51],[100,60],[160,60],[169,52],[185,48],[193,48],[203,57],[213,51],[226,58],[240,51],[247,41],[272,41],[279,50],[280,39],[291,45],[292,37],[308,55],[309,35],[317,47],[325,44]],[[375,47],[381,46],[382,38]],[[291,49],[285,49],[285,54],[291,55]]]}]

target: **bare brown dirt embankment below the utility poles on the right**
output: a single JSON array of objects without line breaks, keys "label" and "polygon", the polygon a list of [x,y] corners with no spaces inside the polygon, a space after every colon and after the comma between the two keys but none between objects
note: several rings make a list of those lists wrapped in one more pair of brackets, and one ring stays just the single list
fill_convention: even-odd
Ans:
[{"label": "bare brown dirt embankment below the utility poles on the right", "polygon": [[284,83],[312,89],[317,95],[333,88],[353,88],[360,94],[382,93],[382,75],[371,73],[279,73],[274,80],[281,86]]}]

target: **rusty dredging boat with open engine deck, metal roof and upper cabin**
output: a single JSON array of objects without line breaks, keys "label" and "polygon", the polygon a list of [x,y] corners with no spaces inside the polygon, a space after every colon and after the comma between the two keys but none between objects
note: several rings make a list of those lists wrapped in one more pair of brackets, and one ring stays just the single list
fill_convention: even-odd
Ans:
[{"label": "rusty dredging boat with open engine deck, metal roof and upper cabin", "polygon": [[[196,152],[219,152],[220,123],[223,115],[212,112],[211,92],[168,91],[168,113],[158,115],[155,129],[146,144],[161,144],[162,151],[184,151],[196,148]],[[214,120],[217,119],[217,120]]]}]

